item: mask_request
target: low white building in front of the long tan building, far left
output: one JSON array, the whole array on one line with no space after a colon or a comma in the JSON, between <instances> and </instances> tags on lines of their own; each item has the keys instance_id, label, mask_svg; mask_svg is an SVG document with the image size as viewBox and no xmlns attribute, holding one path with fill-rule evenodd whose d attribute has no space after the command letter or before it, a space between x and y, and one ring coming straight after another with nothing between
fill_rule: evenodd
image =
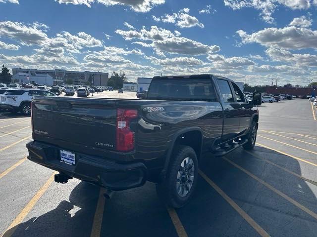
<instances>
[{"instance_id":1,"label":"low white building in front of the long tan building, far left","mask_svg":"<svg viewBox=\"0 0 317 237\"><path fill-rule=\"evenodd\" d=\"M38 83L40 85L55 85L62 83L63 80L53 78L48 74L34 74L16 73L12 76L12 81L19 83Z\"/></svg>"}]
</instances>

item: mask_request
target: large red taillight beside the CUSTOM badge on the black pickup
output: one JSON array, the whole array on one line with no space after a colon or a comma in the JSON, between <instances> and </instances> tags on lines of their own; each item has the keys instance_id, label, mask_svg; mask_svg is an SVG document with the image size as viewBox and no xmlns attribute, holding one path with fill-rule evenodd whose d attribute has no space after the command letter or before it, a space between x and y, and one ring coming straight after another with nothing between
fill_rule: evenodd
<instances>
[{"instance_id":1,"label":"large red taillight beside the CUSTOM badge on the black pickup","mask_svg":"<svg viewBox=\"0 0 317 237\"><path fill-rule=\"evenodd\" d=\"M117 109L116 150L128 152L134 149L134 132L130 130L130 121L138 117L137 110Z\"/></svg>"}]
</instances>

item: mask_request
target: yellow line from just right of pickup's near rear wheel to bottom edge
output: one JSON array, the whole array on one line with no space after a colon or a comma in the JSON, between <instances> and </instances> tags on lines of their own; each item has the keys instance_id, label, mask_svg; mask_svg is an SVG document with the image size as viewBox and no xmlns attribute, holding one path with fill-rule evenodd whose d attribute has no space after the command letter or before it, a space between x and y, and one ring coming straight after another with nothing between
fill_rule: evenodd
<instances>
[{"instance_id":1,"label":"yellow line from just right of pickup's near rear wheel to bottom edge","mask_svg":"<svg viewBox=\"0 0 317 237\"><path fill-rule=\"evenodd\" d=\"M221 196L223 197L232 207L235 209L242 217L245 219L252 227L255 229L260 236L262 237L269 237L266 231L259 226L244 210L238 206L228 195L226 195L215 183L211 181L211 179L201 170L198 171L199 174L210 184L210 186Z\"/></svg>"}]
</instances>

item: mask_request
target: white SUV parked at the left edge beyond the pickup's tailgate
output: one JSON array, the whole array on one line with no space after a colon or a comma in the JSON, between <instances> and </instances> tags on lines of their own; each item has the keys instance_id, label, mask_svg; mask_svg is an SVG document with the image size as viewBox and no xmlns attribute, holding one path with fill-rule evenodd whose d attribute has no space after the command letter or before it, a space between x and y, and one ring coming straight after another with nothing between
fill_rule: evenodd
<instances>
[{"instance_id":1,"label":"white SUV parked at the left edge beyond the pickup's tailgate","mask_svg":"<svg viewBox=\"0 0 317 237\"><path fill-rule=\"evenodd\" d=\"M32 96L55 96L52 92L39 89L8 90L0 96L0 107L8 109L12 113L21 112L23 115L31 114Z\"/></svg>"}]
</instances>

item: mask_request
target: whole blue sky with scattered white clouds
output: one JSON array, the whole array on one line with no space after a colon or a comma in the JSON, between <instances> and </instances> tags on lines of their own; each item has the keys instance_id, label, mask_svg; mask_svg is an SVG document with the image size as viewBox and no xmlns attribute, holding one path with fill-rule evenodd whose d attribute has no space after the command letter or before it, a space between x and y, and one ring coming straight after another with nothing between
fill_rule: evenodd
<instances>
[{"instance_id":1,"label":"whole blue sky with scattered white clouds","mask_svg":"<svg viewBox=\"0 0 317 237\"><path fill-rule=\"evenodd\" d=\"M0 0L0 63L317 81L317 0Z\"/></svg>"}]
</instances>

